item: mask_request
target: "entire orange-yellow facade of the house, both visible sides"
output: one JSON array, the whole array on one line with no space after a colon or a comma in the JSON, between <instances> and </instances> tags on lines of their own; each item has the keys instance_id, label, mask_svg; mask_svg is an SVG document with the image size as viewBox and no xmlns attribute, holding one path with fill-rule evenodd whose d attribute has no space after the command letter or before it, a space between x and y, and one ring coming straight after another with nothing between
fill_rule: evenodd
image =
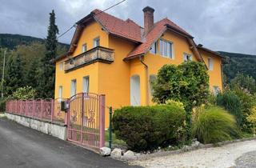
<instances>
[{"instance_id":1,"label":"entire orange-yellow facade of the house, both visible sides","mask_svg":"<svg viewBox=\"0 0 256 168\"><path fill-rule=\"evenodd\" d=\"M184 62L184 53L190 54L193 61L198 61L190 49L186 38L170 30L166 30L160 38L173 44L173 58L163 57L159 52L151 54L148 51L140 58L123 61L137 44L125 38L107 33L95 21L82 30L77 47L70 57L81 54L83 52L82 45L84 44L86 44L87 50L94 48L93 41L95 38L100 39L100 46L114 50L114 62L93 62L76 70L65 72L62 66L63 62L68 58L58 60L56 62L55 98L58 98L60 95L60 86L62 86L62 98L70 98L71 81L74 79L76 80L76 93L82 92L82 79L88 76L90 78L88 91L90 93L106 95L106 110L108 110L108 106L113 106L114 109L130 106L130 80L131 77L137 75L140 80L140 105L150 105L152 104L150 76L156 75L158 70L165 64L178 65ZM157 43L157 50L159 51L159 42ZM222 90L222 58L205 50L198 51L202 55L204 62L206 62L206 66L208 66L208 58L211 58L213 62L213 70L208 70L210 90L213 90L214 87ZM146 64L147 68L142 62ZM106 115L106 126L108 124L108 115Z\"/></svg>"}]
</instances>

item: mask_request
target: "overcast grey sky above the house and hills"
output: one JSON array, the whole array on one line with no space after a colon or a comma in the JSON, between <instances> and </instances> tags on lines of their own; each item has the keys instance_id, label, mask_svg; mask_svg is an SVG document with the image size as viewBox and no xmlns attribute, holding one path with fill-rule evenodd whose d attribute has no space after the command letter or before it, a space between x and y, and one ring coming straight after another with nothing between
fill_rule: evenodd
<instances>
[{"instance_id":1,"label":"overcast grey sky above the house and hills","mask_svg":"<svg viewBox=\"0 0 256 168\"><path fill-rule=\"evenodd\" d=\"M0 33L46 38L49 13L55 10L60 34L98 8L121 0L0 0ZM143 26L142 9L154 8L154 21L170 18L211 50L256 54L255 0L126 0L107 10ZM74 29L60 42L70 43Z\"/></svg>"}]
</instances>

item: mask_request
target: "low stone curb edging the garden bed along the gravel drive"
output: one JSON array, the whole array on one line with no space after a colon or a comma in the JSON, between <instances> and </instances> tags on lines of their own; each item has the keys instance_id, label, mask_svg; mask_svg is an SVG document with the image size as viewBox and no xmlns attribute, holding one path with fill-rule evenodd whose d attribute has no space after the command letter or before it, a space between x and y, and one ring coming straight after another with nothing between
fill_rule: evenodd
<instances>
[{"instance_id":1,"label":"low stone curb edging the garden bed along the gravel drive","mask_svg":"<svg viewBox=\"0 0 256 168\"><path fill-rule=\"evenodd\" d=\"M224 146L224 145L231 144L231 143L251 141L251 140L256 140L256 137L235 139L235 140L231 140L231 141L218 142L216 144L213 144L213 143L201 144L200 143L198 146L187 146L186 148L182 148L180 150L159 151L159 152L155 152L155 153L152 153L152 154L136 154L136 157L134 157L134 158L123 158L123 157L121 157L118 160L122 160L122 161L140 160L140 161L142 161L142 160L147 160L147 159L150 159L150 158L162 157L162 156L167 156L167 155L171 155L171 154L182 154L182 153L189 152L189 151L192 151L192 150L199 150L199 149L206 149L206 148L210 148L210 147Z\"/></svg>"}]
</instances>

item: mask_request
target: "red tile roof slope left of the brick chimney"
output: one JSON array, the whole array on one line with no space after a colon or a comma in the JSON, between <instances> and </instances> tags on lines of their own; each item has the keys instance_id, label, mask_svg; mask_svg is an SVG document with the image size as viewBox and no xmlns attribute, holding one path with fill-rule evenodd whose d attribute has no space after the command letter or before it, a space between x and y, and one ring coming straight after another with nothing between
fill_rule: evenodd
<instances>
[{"instance_id":1,"label":"red tile roof slope left of the brick chimney","mask_svg":"<svg viewBox=\"0 0 256 168\"><path fill-rule=\"evenodd\" d=\"M116 18L110 14L106 14L101 10L93 10L94 18L106 28L110 34L115 34L123 38L141 42L142 41L142 28L134 21L128 18L126 21Z\"/></svg>"}]
</instances>

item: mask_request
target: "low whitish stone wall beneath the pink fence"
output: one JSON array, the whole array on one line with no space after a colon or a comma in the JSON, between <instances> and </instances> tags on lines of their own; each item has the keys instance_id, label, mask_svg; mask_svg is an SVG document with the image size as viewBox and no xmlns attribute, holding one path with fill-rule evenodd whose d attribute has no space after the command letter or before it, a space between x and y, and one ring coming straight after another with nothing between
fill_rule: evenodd
<instances>
[{"instance_id":1,"label":"low whitish stone wall beneath the pink fence","mask_svg":"<svg viewBox=\"0 0 256 168\"><path fill-rule=\"evenodd\" d=\"M14 122L18 122L22 126L30 127L44 134L66 140L66 126L58 122L41 121L35 118L29 118L18 114L10 114L6 112L6 117Z\"/></svg>"}]
</instances>

